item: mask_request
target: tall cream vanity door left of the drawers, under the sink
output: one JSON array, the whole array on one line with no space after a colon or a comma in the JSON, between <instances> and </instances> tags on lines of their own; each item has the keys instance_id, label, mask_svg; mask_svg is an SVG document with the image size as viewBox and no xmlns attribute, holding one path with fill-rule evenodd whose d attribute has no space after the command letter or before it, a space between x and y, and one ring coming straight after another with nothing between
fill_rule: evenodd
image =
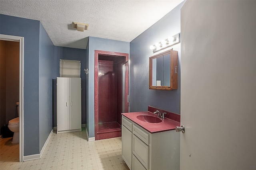
<instances>
[{"instance_id":1,"label":"tall cream vanity door left of the drawers, under the sink","mask_svg":"<svg viewBox=\"0 0 256 170\"><path fill-rule=\"evenodd\" d=\"M122 125L122 158L131 169L132 165L132 132Z\"/></svg>"}]
</instances>

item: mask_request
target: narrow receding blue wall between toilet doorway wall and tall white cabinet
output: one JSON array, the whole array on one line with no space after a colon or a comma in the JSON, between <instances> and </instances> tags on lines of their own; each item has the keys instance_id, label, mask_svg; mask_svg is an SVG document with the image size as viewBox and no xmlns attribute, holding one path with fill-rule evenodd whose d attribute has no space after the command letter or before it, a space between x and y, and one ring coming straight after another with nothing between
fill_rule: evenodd
<instances>
[{"instance_id":1,"label":"narrow receding blue wall between toilet doorway wall and tall white cabinet","mask_svg":"<svg viewBox=\"0 0 256 170\"><path fill-rule=\"evenodd\" d=\"M40 23L39 30L39 149L52 130L52 70L54 45Z\"/></svg>"}]
</instances>

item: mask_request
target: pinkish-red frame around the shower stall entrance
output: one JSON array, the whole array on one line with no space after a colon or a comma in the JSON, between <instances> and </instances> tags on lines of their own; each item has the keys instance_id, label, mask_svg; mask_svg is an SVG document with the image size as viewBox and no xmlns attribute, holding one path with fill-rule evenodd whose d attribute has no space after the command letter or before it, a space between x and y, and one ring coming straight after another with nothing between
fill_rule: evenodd
<instances>
[{"instance_id":1,"label":"pinkish-red frame around the shower stall entrance","mask_svg":"<svg viewBox=\"0 0 256 170\"><path fill-rule=\"evenodd\" d=\"M125 61L129 60L129 54L128 53L118 53L118 52L112 52L112 51L100 51L95 50L94 51L94 135L95 140L98 140L98 59L99 55L106 55L106 56L113 56L113 57L125 57ZM129 95L129 70L126 69L126 80L125 80L125 86L126 91L125 95ZM128 98L126 98L126 105L125 107L129 107ZM128 109L126 109L128 110Z\"/></svg>"}]
</instances>

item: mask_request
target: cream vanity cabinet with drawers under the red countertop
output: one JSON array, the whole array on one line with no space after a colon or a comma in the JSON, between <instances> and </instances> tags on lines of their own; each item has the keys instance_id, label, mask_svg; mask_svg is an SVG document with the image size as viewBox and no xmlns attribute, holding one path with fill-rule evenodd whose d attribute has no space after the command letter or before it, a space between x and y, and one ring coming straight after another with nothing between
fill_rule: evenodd
<instances>
[{"instance_id":1,"label":"cream vanity cabinet with drawers under the red countertop","mask_svg":"<svg viewBox=\"0 0 256 170\"><path fill-rule=\"evenodd\" d=\"M127 122L132 127L129 135ZM150 133L122 116L122 157L131 170L179 170L180 134L175 130ZM128 162L130 157L132 161Z\"/></svg>"}]
</instances>

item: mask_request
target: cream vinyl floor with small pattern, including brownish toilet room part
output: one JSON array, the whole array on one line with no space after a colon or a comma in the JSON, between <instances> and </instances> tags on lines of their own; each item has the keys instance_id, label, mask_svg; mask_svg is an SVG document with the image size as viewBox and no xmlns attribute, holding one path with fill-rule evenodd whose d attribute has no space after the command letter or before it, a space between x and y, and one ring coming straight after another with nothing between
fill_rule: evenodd
<instances>
[{"instance_id":1,"label":"cream vinyl floor with small pattern, including brownish toilet room part","mask_svg":"<svg viewBox=\"0 0 256 170\"><path fill-rule=\"evenodd\" d=\"M82 132L56 131L41 159L19 161L19 145L12 138L0 139L1 170L128 170L122 159L121 137L88 142Z\"/></svg>"}]
</instances>

